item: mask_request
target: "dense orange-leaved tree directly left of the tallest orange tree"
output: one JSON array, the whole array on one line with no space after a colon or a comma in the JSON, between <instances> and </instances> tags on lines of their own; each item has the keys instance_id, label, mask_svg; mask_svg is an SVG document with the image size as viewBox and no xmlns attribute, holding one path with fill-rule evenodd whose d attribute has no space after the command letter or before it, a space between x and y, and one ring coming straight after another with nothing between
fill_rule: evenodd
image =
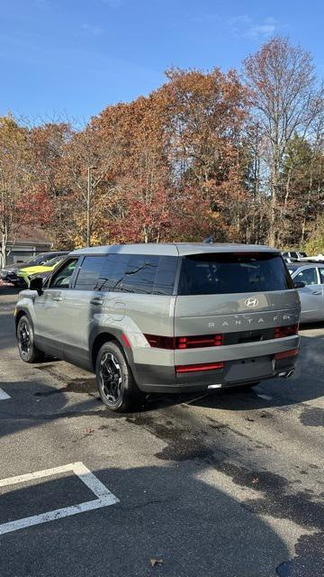
<instances>
[{"instance_id":1,"label":"dense orange-leaved tree directly left of the tallest orange tree","mask_svg":"<svg viewBox=\"0 0 324 577\"><path fill-rule=\"evenodd\" d=\"M157 95L109 106L93 126L104 146L119 151L106 175L102 221L115 242L158 242L170 227L172 188Z\"/></svg>"}]
</instances>

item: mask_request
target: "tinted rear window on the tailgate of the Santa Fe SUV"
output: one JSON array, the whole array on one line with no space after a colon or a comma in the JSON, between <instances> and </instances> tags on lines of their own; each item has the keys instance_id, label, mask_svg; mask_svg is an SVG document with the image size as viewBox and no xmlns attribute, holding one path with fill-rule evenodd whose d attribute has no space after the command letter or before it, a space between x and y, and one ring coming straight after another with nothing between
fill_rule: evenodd
<instances>
[{"instance_id":1,"label":"tinted rear window on the tailgate of the Santa Fe SUV","mask_svg":"<svg viewBox=\"0 0 324 577\"><path fill-rule=\"evenodd\" d=\"M204 253L184 257L178 294L220 295L293 288L293 280L277 253Z\"/></svg>"}]
</instances>

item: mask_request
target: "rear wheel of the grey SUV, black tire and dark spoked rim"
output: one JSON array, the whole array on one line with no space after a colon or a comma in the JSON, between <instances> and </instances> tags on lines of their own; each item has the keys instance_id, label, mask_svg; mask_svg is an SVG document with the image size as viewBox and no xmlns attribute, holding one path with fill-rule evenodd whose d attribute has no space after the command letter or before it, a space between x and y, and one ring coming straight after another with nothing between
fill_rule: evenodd
<instances>
[{"instance_id":1,"label":"rear wheel of the grey SUV, black tire and dark spoked rim","mask_svg":"<svg viewBox=\"0 0 324 577\"><path fill-rule=\"evenodd\" d=\"M117 343L103 344L96 358L95 375L100 397L106 407L119 413L137 407L141 393Z\"/></svg>"}]
</instances>

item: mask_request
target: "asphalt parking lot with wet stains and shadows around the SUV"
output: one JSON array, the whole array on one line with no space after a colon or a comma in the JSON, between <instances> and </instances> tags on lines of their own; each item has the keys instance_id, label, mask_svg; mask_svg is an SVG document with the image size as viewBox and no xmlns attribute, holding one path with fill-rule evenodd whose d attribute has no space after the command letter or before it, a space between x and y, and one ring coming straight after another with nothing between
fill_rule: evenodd
<instances>
[{"instance_id":1,"label":"asphalt parking lot with wet stains and shadows around the SUV","mask_svg":"<svg viewBox=\"0 0 324 577\"><path fill-rule=\"evenodd\" d=\"M91 374L19 359L0 291L1 577L324 574L324 325L291 380L121 416Z\"/></svg>"}]
</instances>

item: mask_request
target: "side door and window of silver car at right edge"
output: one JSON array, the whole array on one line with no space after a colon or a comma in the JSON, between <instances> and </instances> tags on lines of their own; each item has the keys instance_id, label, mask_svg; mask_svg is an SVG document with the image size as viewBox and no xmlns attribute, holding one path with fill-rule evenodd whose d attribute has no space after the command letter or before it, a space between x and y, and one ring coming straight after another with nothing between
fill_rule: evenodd
<instances>
[{"instance_id":1,"label":"side door and window of silver car at right edge","mask_svg":"<svg viewBox=\"0 0 324 577\"><path fill-rule=\"evenodd\" d=\"M305 283L305 287L298 289L302 303L302 323L321 320L323 318L323 291L317 268L313 266L299 270L293 276L293 280Z\"/></svg>"}]
</instances>

